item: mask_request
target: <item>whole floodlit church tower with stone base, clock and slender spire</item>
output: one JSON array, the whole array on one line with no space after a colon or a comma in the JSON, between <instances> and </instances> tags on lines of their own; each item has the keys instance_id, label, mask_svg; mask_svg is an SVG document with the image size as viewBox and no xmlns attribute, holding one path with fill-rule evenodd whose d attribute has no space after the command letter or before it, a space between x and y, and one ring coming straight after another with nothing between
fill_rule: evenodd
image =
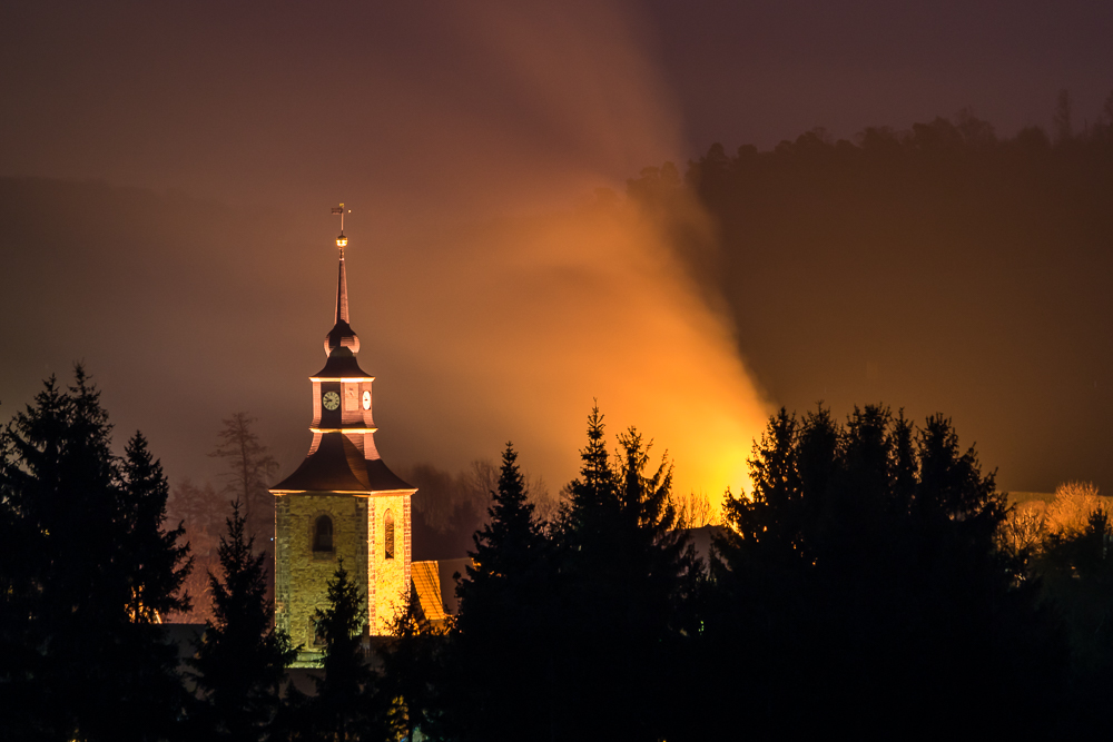
<instances>
[{"instance_id":1,"label":"whole floodlit church tower with stone base, clock and slender spire","mask_svg":"<svg viewBox=\"0 0 1113 742\"><path fill-rule=\"evenodd\" d=\"M275 485L275 617L295 645L321 641L313 615L327 605L326 583L343 560L361 586L371 634L386 634L410 592L410 499L416 488L375 449L373 376L359 368L359 338L348 324L341 215L336 319L325 336L325 367L313 383L313 443L301 466Z\"/></svg>"}]
</instances>

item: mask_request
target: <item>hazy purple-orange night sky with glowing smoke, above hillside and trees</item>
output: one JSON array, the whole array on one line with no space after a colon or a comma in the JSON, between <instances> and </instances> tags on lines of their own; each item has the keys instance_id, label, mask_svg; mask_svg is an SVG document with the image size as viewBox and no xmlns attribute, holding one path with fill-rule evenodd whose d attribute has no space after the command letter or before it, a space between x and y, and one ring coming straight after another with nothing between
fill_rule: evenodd
<instances>
[{"instance_id":1,"label":"hazy purple-orange night sky with glowing smoke, above hillside and trees","mask_svg":"<svg viewBox=\"0 0 1113 742\"><path fill-rule=\"evenodd\" d=\"M215 476L238 410L288 473L344 201L388 464L454 471L513 441L555 492L598 404L679 489L737 491L768 414L816 380L759 378L776 348L597 189L818 126L969 107L1007 136L1047 126L1061 89L1084 118L1113 90L1109 38L1099 2L6 2L0 415L81 362L171 481ZM1113 486L1100 452L1033 463L1041 436L1092 431L1003 439L1002 410L966 399L925 404L1003 486Z\"/></svg>"}]
</instances>

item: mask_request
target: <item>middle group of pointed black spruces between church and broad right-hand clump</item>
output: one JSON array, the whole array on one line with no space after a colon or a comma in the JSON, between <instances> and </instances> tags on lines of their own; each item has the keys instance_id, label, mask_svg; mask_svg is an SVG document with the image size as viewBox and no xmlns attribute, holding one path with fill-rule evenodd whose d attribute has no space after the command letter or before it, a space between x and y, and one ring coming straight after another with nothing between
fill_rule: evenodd
<instances>
[{"instance_id":1,"label":"middle group of pointed black spruces between church and broad right-hand clump","mask_svg":"<svg viewBox=\"0 0 1113 742\"><path fill-rule=\"evenodd\" d=\"M589 417L580 476L543 535L513 448L476 534L450 637L446 726L462 739L659 739L697 571L672 531L671 466L631 428L607 449Z\"/></svg>"}]
</instances>

